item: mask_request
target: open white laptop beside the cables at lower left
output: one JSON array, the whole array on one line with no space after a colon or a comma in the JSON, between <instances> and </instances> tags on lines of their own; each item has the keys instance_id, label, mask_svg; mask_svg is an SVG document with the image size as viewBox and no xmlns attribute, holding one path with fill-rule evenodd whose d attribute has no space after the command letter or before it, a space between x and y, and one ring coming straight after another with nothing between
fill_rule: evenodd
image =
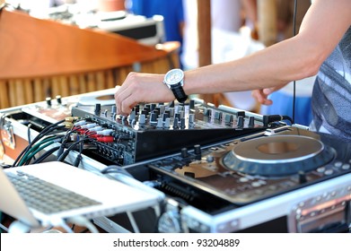
<instances>
[{"instance_id":1,"label":"open white laptop beside the cables at lower left","mask_svg":"<svg viewBox=\"0 0 351 251\"><path fill-rule=\"evenodd\" d=\"M12 181L10 176L14 176ZM30 186L25 185L28 179L32 182ZM37 184L46 188L35 188ZM58 194L55 195L57 192L51 190L57 188ZM42 203L42 197L50 194L49 203ZM65 195L68 195L67 198L62 198ZM35 202L38 199L39 204ZM159 201L157 193L127 186L59 161L0 169L0 212L31 228L55 226L57 220L65 221L75 216L92 219L118 212L133 212L154 206ZM50 204L54 206L51 208Z\"/></svg>"}]
</instances>

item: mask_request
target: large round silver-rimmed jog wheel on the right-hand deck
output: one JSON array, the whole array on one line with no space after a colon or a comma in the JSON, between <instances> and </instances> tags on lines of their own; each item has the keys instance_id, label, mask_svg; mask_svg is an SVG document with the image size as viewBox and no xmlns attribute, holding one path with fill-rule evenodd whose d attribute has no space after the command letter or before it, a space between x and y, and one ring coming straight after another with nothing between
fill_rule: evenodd
<instances>
[{"instance_id":1,"label":"large round silver-rimmed jog wheel on the right-hand deck","mask_svg":"<svg viewBox=\"0 0 351 251\"><path fill-rule=\"evenodd\" d=\"M241 173L281 177L327 164L335 151L317 139L276 135L238 144L223 158L224 167Z\"/></svg>"}]
</instances>

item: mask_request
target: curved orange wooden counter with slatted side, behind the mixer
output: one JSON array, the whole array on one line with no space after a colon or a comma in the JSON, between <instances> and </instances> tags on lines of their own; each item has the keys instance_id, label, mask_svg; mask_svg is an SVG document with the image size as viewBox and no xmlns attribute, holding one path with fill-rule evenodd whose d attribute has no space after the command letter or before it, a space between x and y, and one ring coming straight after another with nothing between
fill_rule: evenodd
<instances>
[{"instance_id":1,"label":"curved orange wooden counter with slatted side, behind the mixer","mask_svg":"<svg viewBox=\"0 0 351 251\"><path fill-rule=\"evenodd\" d=\"M178 42L157 48L117 34L83 30L26 13L0 13L0 108L99 91L131 71L179 66Z\"/></svg>"}]
</instances>

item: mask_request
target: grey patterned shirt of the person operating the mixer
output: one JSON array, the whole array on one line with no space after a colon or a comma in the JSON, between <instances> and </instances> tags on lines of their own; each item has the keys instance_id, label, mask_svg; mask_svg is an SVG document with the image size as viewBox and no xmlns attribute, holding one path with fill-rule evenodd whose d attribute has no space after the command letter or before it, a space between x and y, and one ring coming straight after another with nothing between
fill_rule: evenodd
<instances>
[{"instance_id":1,"label":"grey patterned shirt of the person operating the mixer","mask_svg":"<svg viewBox=\"0 0 351 251\"><path fill-rule=\"evenodd\" d=\"M320 66L312 92L312 113L317 130L351 139L351 26Z\"/></svg>"}]
</instances>

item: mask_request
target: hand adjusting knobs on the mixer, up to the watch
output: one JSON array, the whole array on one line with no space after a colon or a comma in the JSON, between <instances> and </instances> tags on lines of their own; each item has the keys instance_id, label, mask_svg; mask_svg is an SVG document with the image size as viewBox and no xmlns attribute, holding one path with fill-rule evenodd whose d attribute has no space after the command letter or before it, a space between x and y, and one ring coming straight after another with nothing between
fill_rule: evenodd
<instances>
[{"instance_id":1,"label":"hand adjusting knobs on the mixer, up to the watch","mask_svg":"<svg viewBox=\"0 0 351 251\"><path fill-rule=\"evenodd\" d=\"M173 93L163 83L163 78L163 74L128 74L115 93L118 114L129 115L131 109L140 102L159 103L174 100Z\"/></svg>"}]
</instances>

